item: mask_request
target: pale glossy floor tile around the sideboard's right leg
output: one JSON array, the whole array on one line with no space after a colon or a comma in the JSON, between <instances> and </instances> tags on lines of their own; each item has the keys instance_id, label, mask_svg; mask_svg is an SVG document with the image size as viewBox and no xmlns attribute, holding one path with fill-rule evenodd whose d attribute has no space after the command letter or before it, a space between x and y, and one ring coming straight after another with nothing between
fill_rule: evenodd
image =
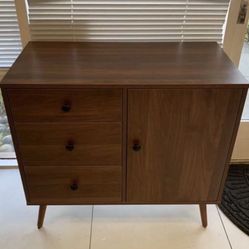
<instances>
[{"instance_id":1,"label":"pale glossy floor tile around the sideboard's right leg","mask_svg":"<svg viewBox=\"0 0 249 249\"><path fill-rule=\"evenodd\" d=\"M92 249L230 249L216 206L202 228L198 206L94 206Z\"/></svg>"}]
</instances>

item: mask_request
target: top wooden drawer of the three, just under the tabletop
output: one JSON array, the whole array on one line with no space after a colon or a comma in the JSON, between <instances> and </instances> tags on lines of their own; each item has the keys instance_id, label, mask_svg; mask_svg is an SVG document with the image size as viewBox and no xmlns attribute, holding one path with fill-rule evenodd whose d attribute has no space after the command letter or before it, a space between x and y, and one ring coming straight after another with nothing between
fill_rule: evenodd
<instances>
[{"instance_id":1,"label":"top wooden drawer of the three, just under the tabletop","mask_svg":"<svg viewBox=\"0 0 249 249\"><path fill-rule=\"evenodd\" d=\"M121 89L11 89L15 122L121 121Z\"/></svg>"}]
</instances>

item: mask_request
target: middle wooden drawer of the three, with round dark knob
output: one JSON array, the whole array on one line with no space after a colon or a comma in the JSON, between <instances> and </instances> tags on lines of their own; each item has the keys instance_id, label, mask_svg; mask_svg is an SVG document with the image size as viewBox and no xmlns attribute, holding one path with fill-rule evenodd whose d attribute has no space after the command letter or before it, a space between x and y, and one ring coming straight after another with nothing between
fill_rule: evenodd
<instances>
[{"instance_id":1,"label":"middle wooden drawer of the three, with round dark knob","mask_svg":"<svg viewBox=\"0 0 249 249\"><path fill-rule=\"evenodd\" d=\"M24 166L121 165L120 123L18 123Z\"/></svg>"}]
</instances>

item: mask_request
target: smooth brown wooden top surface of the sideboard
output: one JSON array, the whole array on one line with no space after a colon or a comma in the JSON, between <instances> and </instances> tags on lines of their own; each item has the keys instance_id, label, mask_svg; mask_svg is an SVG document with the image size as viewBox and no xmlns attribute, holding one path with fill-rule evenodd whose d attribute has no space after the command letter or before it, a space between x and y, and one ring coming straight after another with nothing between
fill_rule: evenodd
<instances>
[{"instance_id":1,"label":"smooth brown wooden top surface of the sideboard","mask_svg":"<svg viewBox=\"0 0 249 249\"><path fill-rule=\"evenodd\" d=\"M234 86L247 80L214 42L29 42L1 87Z\"/></svg>"}]
</instances>

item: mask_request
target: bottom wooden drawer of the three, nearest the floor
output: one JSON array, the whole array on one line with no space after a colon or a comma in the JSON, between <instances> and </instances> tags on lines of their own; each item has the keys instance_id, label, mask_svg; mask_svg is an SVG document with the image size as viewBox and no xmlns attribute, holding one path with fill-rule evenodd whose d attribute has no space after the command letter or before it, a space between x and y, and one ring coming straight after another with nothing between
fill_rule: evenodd
<instances>
[{"instance_id":1,"label":"bottom wooden drawer of the three, nearest the floor","mask_svg":"<svg viewBox=\"0 0 249 249\"><path fill-rule=\"evenodd\" d=\"M26 167L30 204L121 201L120 167Z\"/></svg>"}]
</instances>

